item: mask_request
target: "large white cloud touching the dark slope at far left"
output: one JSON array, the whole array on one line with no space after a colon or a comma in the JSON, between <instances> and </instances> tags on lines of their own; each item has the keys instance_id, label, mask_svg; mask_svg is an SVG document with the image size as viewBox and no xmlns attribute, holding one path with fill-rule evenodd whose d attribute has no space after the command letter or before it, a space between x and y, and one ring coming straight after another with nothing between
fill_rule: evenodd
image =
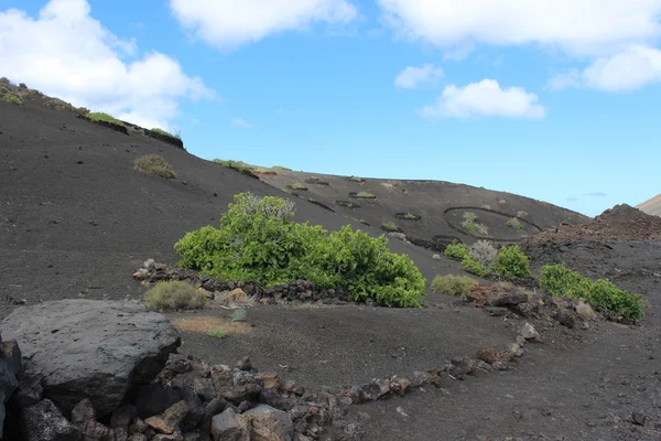
<instances>
[{"instance_id":1,"label":"large white cloud touching the dark slope at far left","mask_svg":"<svg viewBox=\"0 0 661 441\"><path fill-rule=\"evenodd\" d=\"M178 115L180 99L213 96L174 58L137 53L136 41L118 39L90 17L86 0L51 0L37 18L0 11L2 75L46 95L163 128Z\"/></svg>"}]
</instances>

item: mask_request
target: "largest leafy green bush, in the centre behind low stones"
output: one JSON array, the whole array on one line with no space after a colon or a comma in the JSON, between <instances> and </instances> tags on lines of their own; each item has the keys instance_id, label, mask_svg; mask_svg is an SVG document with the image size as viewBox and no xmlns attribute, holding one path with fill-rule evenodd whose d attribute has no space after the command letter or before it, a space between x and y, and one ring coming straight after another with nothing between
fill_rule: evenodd
<instances>
[{"instance_id":1,"label":"largest leafy green bush, in the centre behind low stones","mask_svg":"<svg viewBox=\"0 0 661 441\"><path fill-rule=\"evenodd\" d=\"M350 226L328 234L292 222L293 213L293 204L280 197L238 194L219 228L201 228L175 244L178 265L267 287L296 280L322 289L344 286L356 301L420 306L425 279L409 256L388 249L383 236L372 238Z\"/></svg>"}]
</instances>

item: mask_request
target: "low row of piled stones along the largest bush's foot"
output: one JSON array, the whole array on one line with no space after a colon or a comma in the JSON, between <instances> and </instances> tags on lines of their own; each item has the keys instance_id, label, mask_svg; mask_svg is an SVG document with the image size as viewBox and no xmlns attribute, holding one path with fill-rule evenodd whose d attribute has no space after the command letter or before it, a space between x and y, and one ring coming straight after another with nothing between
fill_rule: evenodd
<instances>
[{"instance_id":1,"label":"low row of piled stones along the largest bush's foot","mask_svg":"<svg viewBox=\"0 0 661 441\"><path fill-rule=\"evenodd\" d=\"M317 289L315 283L300 280L294 283L267 288L256 281L241 280L228 282L213 277L202 276L197 271L191 269L172 268L163 263L148 262L145 262L144 268L140 268L133 273L133 279L142 281L144 284L169 280L186 280L206 290L209 293L209 297L224 298L226 293L240 289L243 291L245 295L252 298L262 304L293 301L345 304L353 299L351 293L343 287L337 287L335 289ZM371 301L371 299L368 299L367 301Z\"/></svg>"}]
</instances>

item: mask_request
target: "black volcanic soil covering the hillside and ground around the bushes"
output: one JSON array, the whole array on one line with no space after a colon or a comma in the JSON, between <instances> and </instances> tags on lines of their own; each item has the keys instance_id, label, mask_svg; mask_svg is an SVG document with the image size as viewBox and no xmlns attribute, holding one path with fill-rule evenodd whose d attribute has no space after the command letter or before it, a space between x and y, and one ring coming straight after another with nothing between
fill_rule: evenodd
<instances>
[{"instance_id":1,"label":"black volcanic soil covering the hillside and ground around the bushes","mask_svg":"<svg viewBox=\"0 0 661 441\"><path fill-rule=\"evenodd\" d=\"M132 170L136 158L151 153L173 164L177 179ZM318 178L329 185L311 184L305 197L338 212L296 198L296 219L329 229L355 217L370 222L372 227L354 225L373 235L391 219L414 236L454 235L443 220L444 209L486 204L508 215L525 211L542 228L587 222L532 200L463 185L443 183L441 192L429 182L366 180L361 186L344 178ZM282 186L296 180L305 181L290 178ZM324 198L318 189L337 194ZM356 211L334 204L361 190L377 200L360 200ZM150 257L174 262L173 243L191 229L216 224L232 195L242 191L284 195L144 136L121 135L30 100L22 107L0 101L0 315L20 308L12 300L140 298L144 289L131 278L132 270ZM394 217L408 212L422 219ZM408 252L429 280L436 273L460 273L456 262L434 260L431 251L399 240L390 247ZM527 251L535 270L564 262L640 292L651 304L644 321L640 326L597 322L588 330L534 322L544 343L527 344L514 369L447 379L442 389L356 407L353 411L369 416L368 439L661 439L660 244L563 240L528 244ZM315 388L443 367L479 346L510 342L521 324L453 302L430 294L429 308L416 311L256 306L248 310L249 333L224 340L183 333L181 351L227 364L250 354L260 370L273 369ZM201 314L227 312L185 316Z\"/></svg>"}]
</instances>

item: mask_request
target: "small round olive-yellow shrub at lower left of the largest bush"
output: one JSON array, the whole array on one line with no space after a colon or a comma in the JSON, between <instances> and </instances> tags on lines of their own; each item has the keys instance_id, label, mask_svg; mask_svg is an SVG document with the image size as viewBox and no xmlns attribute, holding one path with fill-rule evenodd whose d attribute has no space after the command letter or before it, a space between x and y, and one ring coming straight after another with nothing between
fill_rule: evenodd
<instances>
[{"instance_id":1,"label":"small round olive-yellow shrub at lower left of the largest bush","mask_svg":"<svg viewBox=\"0 0 661 441\"><path fill-rule=\"evenodd\" d=\"M144 305L152 311L197 310L206 300L204 293L180 280L158 282L144 294Z\"/></svg>"}]
</instances>

